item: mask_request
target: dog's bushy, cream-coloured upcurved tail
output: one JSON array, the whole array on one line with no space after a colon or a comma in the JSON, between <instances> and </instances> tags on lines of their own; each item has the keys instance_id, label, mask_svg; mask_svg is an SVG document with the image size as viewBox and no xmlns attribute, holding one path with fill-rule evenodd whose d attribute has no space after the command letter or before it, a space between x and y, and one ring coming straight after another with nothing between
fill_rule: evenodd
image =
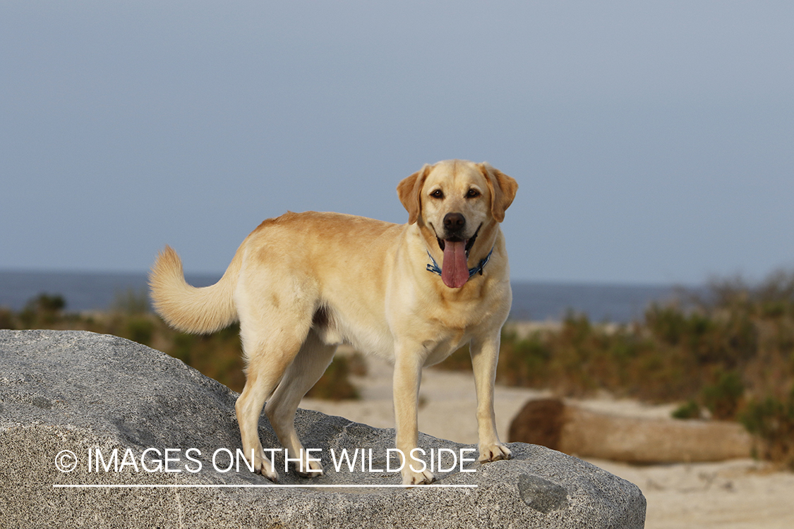
<instances>
[{"instance_id":1,"label":"dog's bushy, cream-coloured upcurved tail","mask_svg":"<svg viewBox=\"0 0 794 529\"><path fill-rule=\"evenodd\" d=\"M196 288L185 282L179 255L172 247L165 247L149 272L154 309L167 324L182 332L202 334L228 327L237 320L233 294L241 260L241 252L237 252L220 281Z\"/></svg>"}]
</instances>

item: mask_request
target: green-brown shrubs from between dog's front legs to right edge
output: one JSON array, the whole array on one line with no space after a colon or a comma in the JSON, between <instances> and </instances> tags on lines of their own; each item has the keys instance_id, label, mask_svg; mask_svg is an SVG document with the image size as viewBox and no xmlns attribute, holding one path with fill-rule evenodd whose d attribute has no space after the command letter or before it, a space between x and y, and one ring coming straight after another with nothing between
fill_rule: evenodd
<instances>
[{"instance_id":1,"label":"green-brown shrubs from between dog's front legs to right edge","mask_svg":"<svg viewBox=\"0 0 794 529\"><path fill-rule=\"evenodd\" d=\"M678 419L739 420L759 457L794 458L794 272L752 285L716 279L707 289L653 303L629 324L594 324L568 312L560 324L502 334L497 381L559 397L607 392L678 402ZM471 369L457 351L441 369Z\"/></svg>"}]
</instances>

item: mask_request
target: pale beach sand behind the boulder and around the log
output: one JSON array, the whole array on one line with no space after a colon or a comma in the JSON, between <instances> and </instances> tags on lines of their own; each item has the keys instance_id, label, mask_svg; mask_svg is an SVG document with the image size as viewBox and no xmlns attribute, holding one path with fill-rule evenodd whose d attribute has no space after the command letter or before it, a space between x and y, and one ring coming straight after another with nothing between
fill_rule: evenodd
<instances>
[{"instance_id":1,"label":"pale beach sand behind the boulder and around the log","mask_svg":"<svg viewBox=\"0 0 794 529\"><path fill-rule=\"evenodd\" d=\"M391 366L371 356L368 374L353 378L359 401L304 399L302 408L375 427L394 427ZM427 369L420 390L419 430L458 443L476 443L476 396L471 374ZM496 420L507 440L511 420L526 401L545 396L532 389L497 385ZM623 416L669 417L673 404L647 406L608 397L572 401ZM715 463L632 466L588 460L642 489L648 500L648 529L720 527L721 529L790 529L794 527L794 473L773 470L763 462L736 459Z\"/></svg>"}]
</instances>

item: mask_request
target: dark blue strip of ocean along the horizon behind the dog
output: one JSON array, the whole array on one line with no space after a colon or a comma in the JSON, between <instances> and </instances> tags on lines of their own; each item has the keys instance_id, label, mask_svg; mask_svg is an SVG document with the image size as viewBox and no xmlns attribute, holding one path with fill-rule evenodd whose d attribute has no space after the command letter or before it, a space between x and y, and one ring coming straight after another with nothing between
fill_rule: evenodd
<instances>
[{"instance_id":1,"label":"dark blue strip of ocean along the horizon behind the dog","mask_svg":"<svg viewBox=\"0 0 794 529\"><path fill-rule=\"evenodd\" d=\"M193 286L208 286L221 275L187 274ZM591 320L626 323L642 317L653 301L673 297L673 286L514 282L514 320L559 320L568 311ZM146 274L0 271L0 307L20 310L40 293L60 294L67 312L110 309L120 295L143 293Z\"/></svg>"}]
</instances>

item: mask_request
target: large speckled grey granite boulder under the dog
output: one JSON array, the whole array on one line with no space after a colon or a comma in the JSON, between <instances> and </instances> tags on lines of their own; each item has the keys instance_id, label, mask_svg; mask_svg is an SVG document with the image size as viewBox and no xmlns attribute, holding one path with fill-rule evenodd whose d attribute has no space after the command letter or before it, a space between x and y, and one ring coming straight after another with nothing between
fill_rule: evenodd
<instances>
[{"instance_id":1,"label":"large speckled grey granite boulder under the dog","mask_svg":"<svg viewBox=\"0 0 794 529\"><path fill-rule=\"evenodd\" d=\"M436 473L437 485L476 488L345 487L399 485L397 460L387 461L394 431L308 410L299 410L296 427L304 446L319 449L313 455L324 476L284 474L279 454L279 485L288 487L242 462L222 472L230 462L222 449L240 447L236 398L183 362L125 339L0 331L0 527L644 526L646 500L635 485L523 443L510 445L510 461L452 469L453 451L476 447L420 435L428 454L449 449L450 470ZM279 447L264 416L260 424L264 447ZM364 469L359 457L353 471L335 470L342 449L365 450Z\"/></svg>"}]
</instances>

